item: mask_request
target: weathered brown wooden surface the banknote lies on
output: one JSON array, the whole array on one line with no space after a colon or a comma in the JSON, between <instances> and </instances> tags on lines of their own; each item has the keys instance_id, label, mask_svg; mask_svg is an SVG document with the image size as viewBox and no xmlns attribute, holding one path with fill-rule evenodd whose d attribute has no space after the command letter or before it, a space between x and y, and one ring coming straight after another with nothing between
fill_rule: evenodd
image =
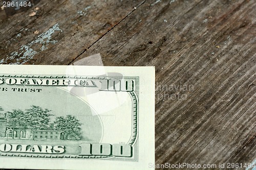
<instances>
[{"instance_id":1,"label":"weathered brown wooden surface the banknote lies on","mask_svg":"<svg viewBox=\"0 0 256 170\"><path fill-rule=\"evenodd\" d=\"M256 1L36 7L9 17L0 9L0 64L68 65L100 53L105 66L155 65L156 164L256 158Z\"/></svg>"}]
</instances>

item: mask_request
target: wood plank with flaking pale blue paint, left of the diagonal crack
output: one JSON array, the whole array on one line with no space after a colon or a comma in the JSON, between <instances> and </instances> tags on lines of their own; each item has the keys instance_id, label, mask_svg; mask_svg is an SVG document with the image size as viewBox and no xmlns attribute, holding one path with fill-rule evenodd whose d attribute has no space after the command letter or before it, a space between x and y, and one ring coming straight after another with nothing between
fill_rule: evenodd
<instances>
[{"instance_id":1,"label":"wood plank with flaking pale blue paint, left of the diagonal crack","mask_svg":"<svg viewBox=\"0 0 256 170\"><path fill-rule=\"evenodd\" d=\"M141 3L44 1L38 4L35 16L29 16L31 9L23 13L24 17L14 15L2 20L0 63L67 64Z\"/></svg>"}]
</instances>

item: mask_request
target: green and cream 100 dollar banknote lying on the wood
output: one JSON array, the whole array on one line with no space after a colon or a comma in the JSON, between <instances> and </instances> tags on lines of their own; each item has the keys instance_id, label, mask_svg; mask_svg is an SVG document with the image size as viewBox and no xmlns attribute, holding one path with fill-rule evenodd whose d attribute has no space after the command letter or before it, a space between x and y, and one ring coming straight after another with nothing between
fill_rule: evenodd
<instances>
[{"instance_id":1,"label":"green and cream 100 dollar banknote lying on the wood","mask_svg":"<svg viewBox=\"0 0 256 170\"><path fill-rule=\"evenodd\" d=\"M154 67L0 65L0 99L1 169L155 162Z\"/></svg>"}]
</instances>

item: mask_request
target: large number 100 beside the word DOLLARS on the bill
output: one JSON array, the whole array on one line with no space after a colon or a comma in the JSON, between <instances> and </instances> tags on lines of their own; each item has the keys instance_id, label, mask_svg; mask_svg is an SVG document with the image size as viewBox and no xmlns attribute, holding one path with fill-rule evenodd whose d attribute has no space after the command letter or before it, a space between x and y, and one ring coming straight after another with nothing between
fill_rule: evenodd
<instances>
[{"instance_id":1,"label":"large number 100 beside the word DOLLARS on the bill","mask_svg":"<svg viewBox=\"0 0 256 170\"><path fill-rule=\"evenodd\" d=\"M109 144L109 143L82 143L81 156L102 155L102 156L119 156L132 157L132 146L129 144Z\"/></svg>"}]
</instances>

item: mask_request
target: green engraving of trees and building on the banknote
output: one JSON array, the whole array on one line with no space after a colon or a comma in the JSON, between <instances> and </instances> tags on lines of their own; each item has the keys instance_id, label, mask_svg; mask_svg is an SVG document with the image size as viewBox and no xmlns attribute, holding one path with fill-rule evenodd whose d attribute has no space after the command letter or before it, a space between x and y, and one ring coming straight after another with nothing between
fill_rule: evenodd
<instances>
[{"instance_id":1,"label":"green engraving of trees and building on the banknote","mask_svg":"<svg viewBox=\"0 0 256 170\"><path fill-rule=\"evenodd\" d=\"M75 116L59 116L53 122L55 116L50 113L51 110L44 110L39 106L31 106L26 111L13 109L11 112L4 112L1 106L0 109L0 138L27 140L81 139L81 123ZM69 123L73 126L71 130L65 128Z\"/></svg>"}]
</instances>

